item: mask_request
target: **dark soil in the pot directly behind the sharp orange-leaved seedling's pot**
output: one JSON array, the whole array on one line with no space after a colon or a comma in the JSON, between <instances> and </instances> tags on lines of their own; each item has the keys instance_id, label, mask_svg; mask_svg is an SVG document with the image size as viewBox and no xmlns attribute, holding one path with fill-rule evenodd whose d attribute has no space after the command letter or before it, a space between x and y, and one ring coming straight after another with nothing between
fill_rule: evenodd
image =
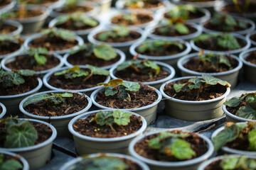
<instances>
[{"instance_id":1,"label":"dark soil in the pot directly behind the sharp orange-leaved seedling's pot","mask_svg":"<svg viewBox=\"0 0 256 170\"><path fill-rule=\"evenodd\" d=\"M127 81L141 81L141 82L146 82L146 81L157 81L160 79L164 79L166 77L168 77L170 75L169 72L166 72L162 67L160 69L159 74L154 75L154 77L149 76L148 74L142 74L141 72L136 72L134 69L132 69L131 67L121 70L121 71L117 71L115 73L115 76L123 79L123 80L127 80Z\"/></svg>"}]
</instances>

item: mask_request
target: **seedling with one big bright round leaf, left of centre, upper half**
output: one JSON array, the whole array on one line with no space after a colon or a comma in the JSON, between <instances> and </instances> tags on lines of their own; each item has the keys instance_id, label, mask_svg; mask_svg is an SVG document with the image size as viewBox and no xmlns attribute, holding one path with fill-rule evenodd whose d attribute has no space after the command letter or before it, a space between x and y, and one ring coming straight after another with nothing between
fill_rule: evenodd
<instances>
[{"instance_id":1,"label":"seedling with one big bright round leaf, left of centre, upper half","mask_svg":"<svg viewBox=\"0 0 256 170\"><path fill-rule=\"evenodd\" d=\"M117 57L117 52L114 51L114 49L110 45L106 44L84 44L80 45L78 49L71 50L70 55L75 55L77 52L83 52L82 56L85 57L97 57L98 59L102 59L105 61L113 60Z\"/></svg>"}]
</instances>

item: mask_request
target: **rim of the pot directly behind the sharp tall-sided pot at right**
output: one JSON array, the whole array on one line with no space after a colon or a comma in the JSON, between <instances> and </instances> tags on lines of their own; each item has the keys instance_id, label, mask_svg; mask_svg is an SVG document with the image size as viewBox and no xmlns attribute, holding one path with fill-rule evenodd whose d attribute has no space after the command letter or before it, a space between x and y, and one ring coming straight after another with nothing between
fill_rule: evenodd
<instances>
[{"instance_id":1,"label":"rim of the pot directly behind the sharp tall-sided pot at right","mask_svg":"<svg viewBox=\"0 0 256 170\"><path fill-rule=\"evenodd\" d=\"M207 53L209 53L209 52L206 52L206 54ZM234 72L238 72L240 69L242 69L241 60L239 60L239 58L236 57L235 55L230 55L230 57L232 57L233 59L235 59L238 62L238 66L233 68L233 69L230 69L228 71L225 71L225 72L212 72L212 73L196 72L196 71L193 71L191 69L186 69L186 67L183 67L183 64L186 64L189 60L191 60L191 58L198 58L198 52L194 52L190 55L186 55L184 57L181 57L177 62L177 66L178 66L178 69L181 70L181 72L186 72L186 73L189 73L189 74L195 74L195 75L198 75L198 76L201 76L202 74L211 75L211 76L223 76L223 75L227 75L227 74L232 74Z\"/></svg>"}]
</instances>

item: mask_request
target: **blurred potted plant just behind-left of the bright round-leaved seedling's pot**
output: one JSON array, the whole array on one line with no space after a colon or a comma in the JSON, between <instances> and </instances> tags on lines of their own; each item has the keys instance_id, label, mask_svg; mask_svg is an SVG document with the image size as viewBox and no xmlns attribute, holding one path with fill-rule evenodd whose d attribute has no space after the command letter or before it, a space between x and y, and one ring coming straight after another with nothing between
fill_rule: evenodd
<instances>
[{"instance_id":1,"label":"blurred potted plant just behind-left of the bright round-leaved seedling's pot","mask_svg":"<svg viewBox=\"0 0 256 170\"><path fill-rule=\"evenodd\" d=\"M31 47L46 47L49 54L53 52L65 54L70 52L71 48L83 43L82 38L76 36L72 31L53 27L43 29L41 33L27 38L24 42L24 47L26 50Z\"/></svg>"}]
</instances>

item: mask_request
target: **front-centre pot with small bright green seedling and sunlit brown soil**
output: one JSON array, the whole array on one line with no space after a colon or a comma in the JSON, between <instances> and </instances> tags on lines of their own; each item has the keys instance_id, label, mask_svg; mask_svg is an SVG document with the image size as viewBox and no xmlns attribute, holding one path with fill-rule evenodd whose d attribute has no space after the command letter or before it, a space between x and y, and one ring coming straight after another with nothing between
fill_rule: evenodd
<instances>
[{"instance_id":1,"label":"front-centre pot with small bright green seedling and sunlit brown soil","mask_svg":"<svg viewBox=\"0 0 256 170\"><path fill-rule=\"evenodd\" d=\"M96 152L126 153L129 142L146 130L146 120L132 112L90 111L68 124L79 155Z\"/></svg>"}]
</instances>

